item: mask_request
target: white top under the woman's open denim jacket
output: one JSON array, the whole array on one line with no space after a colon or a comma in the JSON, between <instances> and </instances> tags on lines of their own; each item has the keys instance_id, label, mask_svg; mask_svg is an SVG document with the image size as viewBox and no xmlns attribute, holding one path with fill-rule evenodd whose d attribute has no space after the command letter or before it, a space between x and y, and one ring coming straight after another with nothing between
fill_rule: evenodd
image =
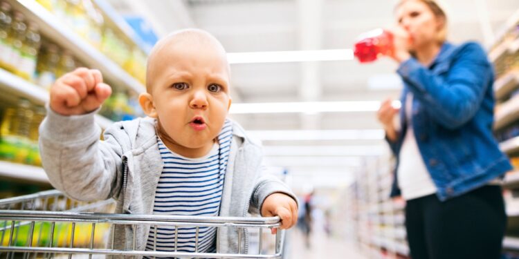
<instances>
[{"instance_id":1,"label":"white top under the woman's open denim jacket","mask_svg":"<svg viewBox=\"0 0 519 259\"><path fill-rule=\"evenodd\" d=\"M406 98L407 131L399 154L398 182L404 200L412 200L437 192L418 149L412 130L412 93Z\"/></svg>"}]
</instances>

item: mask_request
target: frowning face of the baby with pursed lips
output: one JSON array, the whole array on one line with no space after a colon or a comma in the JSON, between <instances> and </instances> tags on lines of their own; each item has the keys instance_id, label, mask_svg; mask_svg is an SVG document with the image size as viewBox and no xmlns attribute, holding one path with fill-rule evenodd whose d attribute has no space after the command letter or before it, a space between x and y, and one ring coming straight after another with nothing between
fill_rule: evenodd
<instances>
[{"instance_id":1,"label":"frowning face of the baby with pursed lips","mask_svg":"<svg viewBox=\"0 0 519 259\"><path fill-rule=\"evenodd\" d=\"M181 41L157 54L151 95L159 134L183 148L212 146L230 107L225 52Z\"/></svg>"}]
</instances>

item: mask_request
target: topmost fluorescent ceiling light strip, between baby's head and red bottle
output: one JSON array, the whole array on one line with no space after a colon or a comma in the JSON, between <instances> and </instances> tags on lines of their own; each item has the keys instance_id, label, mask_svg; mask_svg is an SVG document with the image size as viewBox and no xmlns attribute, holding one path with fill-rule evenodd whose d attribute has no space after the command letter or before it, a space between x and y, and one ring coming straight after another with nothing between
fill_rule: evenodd
<instances>
[{"instance_id":1,"label":"topmost fluorescent ceiling light strip, between baby's head and red bottle","mask_svg":"<svg viewBox=\"0 0 519 259\"><path fill-rule=\"evenodd\" d=\"M352 60L352 49L227 53L229 64Z\"/></svg>"}]
</instances>

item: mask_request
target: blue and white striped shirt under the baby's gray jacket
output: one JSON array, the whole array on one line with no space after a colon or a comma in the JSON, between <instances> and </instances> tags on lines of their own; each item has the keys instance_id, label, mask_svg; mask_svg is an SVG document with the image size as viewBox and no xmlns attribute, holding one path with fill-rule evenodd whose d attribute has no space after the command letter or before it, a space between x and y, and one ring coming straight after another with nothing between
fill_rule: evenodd
<instances>
[{"instance_id":1,"label":"blue and white striped shirt under the baby's gray jacket","mask_svg":"<svg viewBox=\"0 0 519 259\"><path fill-rule=\"evenodd\" d=\"M158 180L153 213L155 215L203 215L219 214L221 193L230 151L233 128L226 120L218 143L208 155L188 158L170 151L160 138L158 149L161 151L164 169ZM195 227L179 227L177 251L195 251ZM158 226L149 231L146 250L175 251L175 227ZM216 228L199 227L199 253L216 251Z\"/></svg>"}]
</instances>

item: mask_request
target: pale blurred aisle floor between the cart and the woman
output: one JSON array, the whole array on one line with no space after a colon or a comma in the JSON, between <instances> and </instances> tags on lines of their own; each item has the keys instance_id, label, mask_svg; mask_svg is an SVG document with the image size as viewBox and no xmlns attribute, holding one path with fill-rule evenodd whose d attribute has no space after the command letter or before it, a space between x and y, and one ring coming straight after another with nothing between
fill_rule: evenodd
<instances>
[{"instance_id":1,"label":"pale blurred aisle floor between the cart and the woman","mask_svg":"<svg viewBox=\"0 0 519 259\"><path fill-rule=\"evenodd\" d=\"M288 259L365 259L358 247L352 242L334 237L327 237L324 232L313 234L311 237L311 248L304 245L304 236L299 229L290 233L286 258Z\"/></svg>"}]
</instances>

